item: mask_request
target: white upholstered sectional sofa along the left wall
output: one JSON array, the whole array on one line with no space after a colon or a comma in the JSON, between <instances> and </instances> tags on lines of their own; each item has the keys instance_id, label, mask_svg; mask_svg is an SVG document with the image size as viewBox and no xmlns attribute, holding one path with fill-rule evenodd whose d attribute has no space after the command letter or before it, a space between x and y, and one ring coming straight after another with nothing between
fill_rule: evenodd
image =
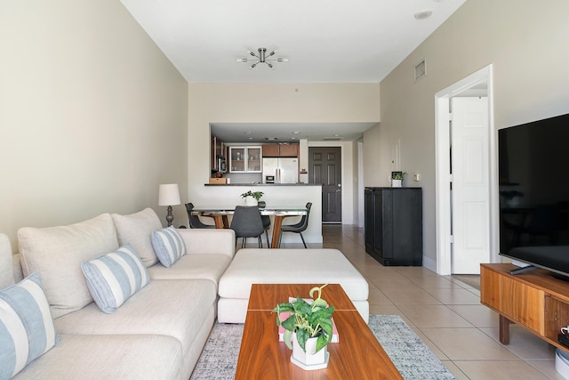
<instances>
[{"instance_id":1,"label":"white upholstered sectional sofa along the left wall","mask_svg":"<svg viewBox=\"0 0 569 380\"><path fill-rule=\"evenodd\" d=\"M0 316L3 293L6 298L11 289L19 290L12 284L37 272L60 338L15 379L189 378L214 323L218 283L235 254L235 235L233 230L177 230L187 253L166 268L152 246L156 230L162 225L149 208L68 226L22 228L20 254L13 256L0 234ZM105 313L93 302L90 287L96 284L85 279L81 263L126 244L148 268L149 282Z\"/></svg>"}]
</instances>

